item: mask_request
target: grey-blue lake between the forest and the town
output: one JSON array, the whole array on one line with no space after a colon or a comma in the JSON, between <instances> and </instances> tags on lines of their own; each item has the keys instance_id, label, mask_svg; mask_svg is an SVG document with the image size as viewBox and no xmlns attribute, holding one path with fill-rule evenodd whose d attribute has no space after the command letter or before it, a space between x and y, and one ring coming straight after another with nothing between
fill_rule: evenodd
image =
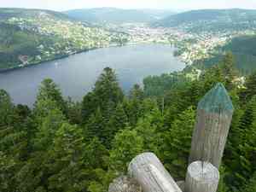
<instances>
[{"instance_id":1,"label":"grey-blue lake between the forest and the town","mask_svg":"<svg viewBox=\"0 0 256 192\"><path fill-rule=\"evenodd\" d=\"M0 89L7 90L15 103L32 106L38 86L50 78L59 84L64 96L78 101L90 91L104 67L112 67L125 91L141 84L148 75L182 70L185 66L173 56L170 45L142 44L95 49L58 61L0 73Z\"/></svg>"}]
</instances>

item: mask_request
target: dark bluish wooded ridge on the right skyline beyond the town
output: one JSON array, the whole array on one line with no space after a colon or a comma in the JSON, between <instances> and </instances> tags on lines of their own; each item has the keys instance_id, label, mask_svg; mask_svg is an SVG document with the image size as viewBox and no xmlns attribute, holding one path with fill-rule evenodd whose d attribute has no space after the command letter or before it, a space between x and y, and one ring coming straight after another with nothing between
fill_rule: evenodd
<instances>
[{"instance_id":1,"label":"dark bluish wooded ridge on the right skyline beyond the town","mask_svg":"<svg viewBox=\"0 0 256 192\"><path fill-rule=\"evenodd\" d=\"M256 10L253 9L201 9L171 15L153 26L185 27L187 30L218 31L256 27Z\"/></svg>"}]
</instances>

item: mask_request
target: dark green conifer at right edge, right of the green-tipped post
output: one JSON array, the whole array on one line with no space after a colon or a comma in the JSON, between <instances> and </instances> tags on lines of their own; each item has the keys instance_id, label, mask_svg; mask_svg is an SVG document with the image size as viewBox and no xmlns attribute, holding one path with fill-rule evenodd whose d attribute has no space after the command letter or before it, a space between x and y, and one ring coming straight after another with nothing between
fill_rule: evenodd
<instances>
[{"instance_id":1,"label":"dark green conifer at right edge, right of the green-tipped post","mask_svg":"<svg viewBox=\"0 0 256 192\"><path fill-rule=\"evenodd\" d=\"M232 174L232 185L237 189L247 183L247 180L256 171L256 97L247 104L245 113L241 116L237 141L233 144L232 159L227 161ZM228 145L229 147L229 145ZM224 160L225 161L225 160ZM241 188L242 189L242 188Z\"/></svg>"}]
</instances>

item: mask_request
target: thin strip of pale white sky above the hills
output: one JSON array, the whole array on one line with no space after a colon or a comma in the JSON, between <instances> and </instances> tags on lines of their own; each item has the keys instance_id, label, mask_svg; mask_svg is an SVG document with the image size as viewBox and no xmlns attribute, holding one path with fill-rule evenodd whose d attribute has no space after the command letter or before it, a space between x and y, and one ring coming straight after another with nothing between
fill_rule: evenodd
<instances>
[{"instance_id":1,"label":"thin strip of pale white sky above the hills","mask_svg":"<svg viewBox=\"0 0 256 192\"><path fill-rule=\"evenodd\" d=\"M0 0L0 7L35 9L256 9L256 0Z\"/></svg>"}]
</instances>

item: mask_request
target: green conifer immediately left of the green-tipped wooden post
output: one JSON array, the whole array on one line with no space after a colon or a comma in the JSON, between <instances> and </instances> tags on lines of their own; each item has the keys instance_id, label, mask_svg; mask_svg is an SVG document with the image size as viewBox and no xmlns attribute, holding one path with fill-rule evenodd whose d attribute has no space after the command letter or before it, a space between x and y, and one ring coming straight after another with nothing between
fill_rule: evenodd
<instances>
[{"instance_id":1,"label":"green conifer immediately left of the green-tipped wooden post","mask_svg":"<svg viewBox=\"0 0 256 192\"><path fill-rule=\"evenodd\" d=\"M161 159L172 176L183 179L188 167L192 132L195 126L195 110L188 108L172 122L164 134L165 142L160 147Z\"/></svg>"}]
</instances>

